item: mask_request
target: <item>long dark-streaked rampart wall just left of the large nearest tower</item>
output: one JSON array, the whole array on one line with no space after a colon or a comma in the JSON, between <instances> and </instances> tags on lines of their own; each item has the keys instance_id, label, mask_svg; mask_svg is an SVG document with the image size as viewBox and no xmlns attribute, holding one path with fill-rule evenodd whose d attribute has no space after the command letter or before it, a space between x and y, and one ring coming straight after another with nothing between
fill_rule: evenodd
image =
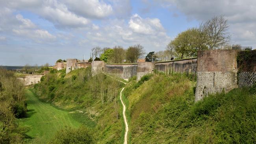
<instances>
[{"instance_id":1,"label":"long dark-streaked rampart wall just left of the large nearest tower","mask_svg":"<svg viewBox=\"0 0 256 144\"><path fill-rule=\"evenodd\" d=\"M179 59L174 61L156 62L156 70L169 72L196 72L197 71L197 57L189 59Z\"/></svg>"}]
</instances>

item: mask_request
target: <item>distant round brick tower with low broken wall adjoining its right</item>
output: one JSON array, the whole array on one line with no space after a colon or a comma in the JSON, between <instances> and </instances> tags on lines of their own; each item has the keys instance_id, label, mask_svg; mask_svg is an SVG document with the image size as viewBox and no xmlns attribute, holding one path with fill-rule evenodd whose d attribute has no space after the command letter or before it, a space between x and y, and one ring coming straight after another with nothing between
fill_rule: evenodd
<instances>
[{"instance_id":1,"label":"distant round brick tower with low broken wall adjoining its right","mask_svg":"<svg viewBox=\"0 0 256 144\"><path fill-rule=\"evenodd\" d=\"M88 61L79 61L78 59L67 59L67 66L66 66L66 74L72 70L76 70L78 68L86 68L91 66L91 63Z\"/></svg>"}]
</instances>

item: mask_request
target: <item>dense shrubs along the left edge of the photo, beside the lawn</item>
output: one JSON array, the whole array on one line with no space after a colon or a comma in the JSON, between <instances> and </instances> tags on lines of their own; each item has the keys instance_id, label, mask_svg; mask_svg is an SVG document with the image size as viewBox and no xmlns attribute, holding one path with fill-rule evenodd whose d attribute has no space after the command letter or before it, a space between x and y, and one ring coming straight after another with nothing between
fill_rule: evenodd
<instances>
[{"instance_id":1,"label":"dense shrubs along the left edge of the photo, beside the lawn","mask_svg":"<svg viewBox=\"0 0 256 144\"><path fill-rule=\"evenodd\" d=\"M29 127L15 121L26 111L24 85L13 72L0 69L0 144L19 144L29 138Z\"/></svg>"}]
</instances>

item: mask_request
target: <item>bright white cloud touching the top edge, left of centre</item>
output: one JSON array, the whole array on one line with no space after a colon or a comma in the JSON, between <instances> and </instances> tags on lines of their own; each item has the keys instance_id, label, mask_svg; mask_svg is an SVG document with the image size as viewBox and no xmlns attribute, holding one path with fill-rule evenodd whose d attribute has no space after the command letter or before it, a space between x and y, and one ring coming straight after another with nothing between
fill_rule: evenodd
<instances>
[{"instance_id":1,"label":"bright white cloud touching the top edge, left of centre","mask_svg":"<svg viewBox=\"0 0 256 144\"><path fill-rule=\"evenodd\" d=\"M65 0L70 11L88 18L104 18L113 13L112 6L99 0Z\"/></svg>"}]
</instances>

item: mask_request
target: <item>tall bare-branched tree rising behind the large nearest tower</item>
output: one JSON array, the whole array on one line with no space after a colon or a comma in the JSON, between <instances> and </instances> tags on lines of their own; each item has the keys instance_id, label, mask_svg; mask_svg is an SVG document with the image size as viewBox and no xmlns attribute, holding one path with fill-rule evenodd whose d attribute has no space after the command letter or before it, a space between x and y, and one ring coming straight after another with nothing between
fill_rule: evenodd
<instances>
[{"instance_id":1,"label":"tall bare-branched tree rising behind the large nearest tower","mask_svg":"<svg viewBox=\"0 0 256 144\"><path fill-rule=\"evenodd\" d=\"M210 50L220 49L230 42L228 20L223 15L214 16L200 27L206 33L206 45Z\"/></svg>"}]
</instances>

